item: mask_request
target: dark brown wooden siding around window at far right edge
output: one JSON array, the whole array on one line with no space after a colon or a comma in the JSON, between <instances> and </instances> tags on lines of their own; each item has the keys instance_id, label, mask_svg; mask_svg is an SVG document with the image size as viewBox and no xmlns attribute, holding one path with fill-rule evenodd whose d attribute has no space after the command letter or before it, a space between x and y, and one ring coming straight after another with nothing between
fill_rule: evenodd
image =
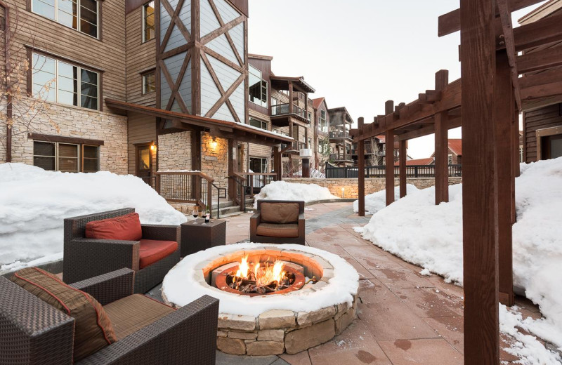
<instances>
[{"instance_id":1,"label":"dark brown wooden siding around window at far right edge","mask_svg":"<svg viewBox=\"0 0 562 365\"><path fill-rule=\"evenodd\" d=\"M525 162L537 161L537 129L562 126L562 104L549 105L523 115Z\"/></svg>"}]
</instances>

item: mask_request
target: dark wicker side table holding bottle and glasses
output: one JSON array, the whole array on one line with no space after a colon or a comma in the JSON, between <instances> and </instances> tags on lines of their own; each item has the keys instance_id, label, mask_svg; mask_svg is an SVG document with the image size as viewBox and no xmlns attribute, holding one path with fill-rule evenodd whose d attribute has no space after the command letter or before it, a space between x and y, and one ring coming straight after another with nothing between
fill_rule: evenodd
<instances>
[{"instance_id":1,"label":"dark wicker side table holding bottle and glasses","mask_svg":"<svg viewBox=\"0 0 562 365\"><path fill-rule=\"evenodd\" d=\"M216 219L203 225L198 219L181 225L181 257L225 244L226 220Z\"/></svg>"}]
</instances>

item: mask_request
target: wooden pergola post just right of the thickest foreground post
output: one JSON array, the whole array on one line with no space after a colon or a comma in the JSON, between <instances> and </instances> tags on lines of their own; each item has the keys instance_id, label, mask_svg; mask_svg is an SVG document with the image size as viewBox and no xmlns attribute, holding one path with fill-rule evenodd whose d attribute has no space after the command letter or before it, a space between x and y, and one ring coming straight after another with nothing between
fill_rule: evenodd
<instances>
[{"instance_id":1,"label":"wooden pergola post just right of the thickest foreground post","mask_svg":"<svg viewBox=\"0 0 562 365\"><path fill-rule=\"evenodd\" d=\"M514 183L512 126L515 110L511 67L506 51L496 53L494 83L495 171L497 184L497 237L499 248L499 301L514 305L513 251L511 234Z\"/></svg>"}]
</instances>

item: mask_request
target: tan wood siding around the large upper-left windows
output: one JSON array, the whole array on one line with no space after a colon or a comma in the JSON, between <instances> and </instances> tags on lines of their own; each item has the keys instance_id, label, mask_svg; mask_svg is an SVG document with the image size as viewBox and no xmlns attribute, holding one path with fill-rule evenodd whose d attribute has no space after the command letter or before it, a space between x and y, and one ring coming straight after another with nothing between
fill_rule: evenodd
<instances>
[{"instance_id":1,"label":"tan wood siding around the large upper-left windows","mask_svg":"<svg viewBox=\"0 0 562 365\"><path fill-rule=\"evenodd\" d=\"M124 0L98 1L100 7L100 39L65 27L41 15L27 11L26 0L15 0L18 32L13 49L21 60L26 58L25 46L34 46L79 64L91 65L100 72L100 97L125 100L125 4ZM13 11L15 13L15 11ZM15 20L13 20L14 22ZM15 24L11 24L15 27ZM22 85L25 88L25 84ZM105 106L100 102L102 108Z\"/></svg>"}]
</instances>

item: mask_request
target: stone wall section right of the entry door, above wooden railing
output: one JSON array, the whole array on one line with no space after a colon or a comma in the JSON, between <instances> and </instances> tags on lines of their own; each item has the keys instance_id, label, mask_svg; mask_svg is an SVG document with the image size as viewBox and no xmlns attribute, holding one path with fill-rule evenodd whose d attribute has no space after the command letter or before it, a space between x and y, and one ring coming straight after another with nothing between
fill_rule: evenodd
<instances>
[{"instance_id":1,"label":"stone wall section right of the entry door, above wooden railing","mask_svg":"<svg viewBox=\"0 0 562 365\"><path fill-rule=\"evenodd\" d=\"M191 132L158 136L158 169L191 170Z\"/></svg>"}]
</instances>

